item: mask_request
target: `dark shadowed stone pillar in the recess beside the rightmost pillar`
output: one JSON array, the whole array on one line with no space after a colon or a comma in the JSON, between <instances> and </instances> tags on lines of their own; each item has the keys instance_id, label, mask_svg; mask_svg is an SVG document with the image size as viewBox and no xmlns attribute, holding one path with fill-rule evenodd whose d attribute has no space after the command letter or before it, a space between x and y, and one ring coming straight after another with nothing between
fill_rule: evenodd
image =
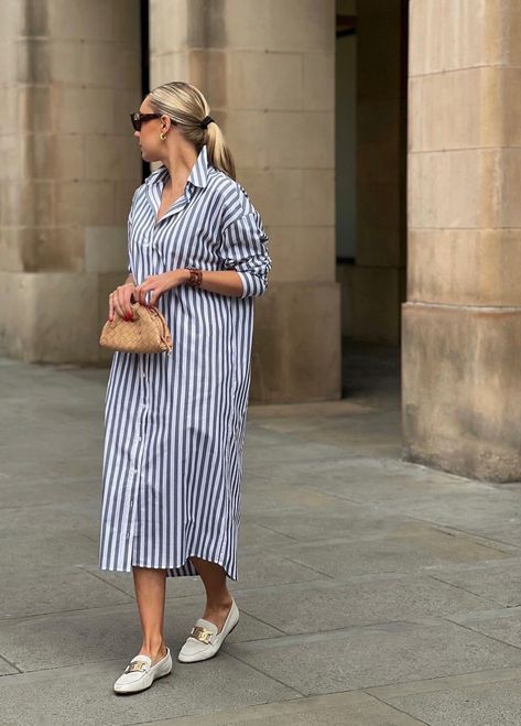
<instances>
[{"instance_id":1,"label":"dark shadowed stone pillar in the recess beside the rightmost pillar","mask_svg":"<svg viewBox=\"0 0 521 726\"><path fill-rule=\"evenodd\" d=\"M394 344L406 299L406 15L404 0L357 3L356 257L338 268L344 332Z\"/></svg>"}]
</instances>

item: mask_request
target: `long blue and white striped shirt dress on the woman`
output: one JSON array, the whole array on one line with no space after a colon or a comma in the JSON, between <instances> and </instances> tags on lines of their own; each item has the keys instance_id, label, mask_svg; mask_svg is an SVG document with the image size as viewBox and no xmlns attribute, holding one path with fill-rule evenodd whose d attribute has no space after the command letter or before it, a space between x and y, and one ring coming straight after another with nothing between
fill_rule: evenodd
<instances>
[{"instance_id":1,"label":"long blue and white striped shirt dress on the woman","mask_svg":"<svg viewBox=\"0 0 521 726\"><path fill-rule=\"evenodd\" d=\"M167 177L161 166L132 198L135 283L178 268L236 270L242 294L170 290L158 307L172 332L172 353L113 354L98 566L194 576L189 557L197 556L237 579L253 299L268 284L268 236L245 188L209 163L206 145L184 194L156 223Z\"/></svg>"}]
</instances>

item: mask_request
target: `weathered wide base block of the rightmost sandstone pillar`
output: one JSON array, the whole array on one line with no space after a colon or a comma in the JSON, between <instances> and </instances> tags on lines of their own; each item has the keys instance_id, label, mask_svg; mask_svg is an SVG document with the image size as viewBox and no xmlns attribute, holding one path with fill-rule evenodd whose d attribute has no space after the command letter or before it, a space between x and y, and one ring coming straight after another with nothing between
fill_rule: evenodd
<instances>
[{"instance_id":1,"label":"weathered wide base block of the rightmost sandstone pillar","mask_svg":"<svg viewBox=\"0 0 521 726\"><path fill-rule=\"evenodd\" d=\"M521 307L402 306L403 458L521 480Z\"/></svg>"}]
</instances>

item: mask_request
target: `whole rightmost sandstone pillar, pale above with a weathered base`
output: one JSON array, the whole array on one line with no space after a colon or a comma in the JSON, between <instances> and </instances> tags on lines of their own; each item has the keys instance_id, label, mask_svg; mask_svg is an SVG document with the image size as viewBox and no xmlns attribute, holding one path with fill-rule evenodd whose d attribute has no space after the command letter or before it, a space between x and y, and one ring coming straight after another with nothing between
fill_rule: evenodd
<instances>
[{"instance_id":1,"label":"whole rightmost sandstone pillar, pale above with a weathered base","mask_svg":"<svg viewBox=\"0 0 521 726\"><path fill-rule=\"evenodd\" d=\"M411 0L405 458L521 478L521 8Z\"/></svg>"}]
</instances>

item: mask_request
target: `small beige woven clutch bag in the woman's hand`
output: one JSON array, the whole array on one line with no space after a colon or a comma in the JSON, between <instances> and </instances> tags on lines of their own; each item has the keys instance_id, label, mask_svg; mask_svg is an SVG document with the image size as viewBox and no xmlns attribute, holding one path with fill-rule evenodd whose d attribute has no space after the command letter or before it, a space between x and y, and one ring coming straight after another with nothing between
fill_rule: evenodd
<instances>
[{"instance_id":1,"label":"small beige woven clutch bag in the woman's hand","mask_svg":"<svg viewBox=\"0 0 521 726\"><path fill-rule=\"evenodd\" d=\"M165 353L172 350L172 335L156 307L132 304L133 319L115 314L101 331L99 345L122 353Z\"/></svg>"}]
</instances>

